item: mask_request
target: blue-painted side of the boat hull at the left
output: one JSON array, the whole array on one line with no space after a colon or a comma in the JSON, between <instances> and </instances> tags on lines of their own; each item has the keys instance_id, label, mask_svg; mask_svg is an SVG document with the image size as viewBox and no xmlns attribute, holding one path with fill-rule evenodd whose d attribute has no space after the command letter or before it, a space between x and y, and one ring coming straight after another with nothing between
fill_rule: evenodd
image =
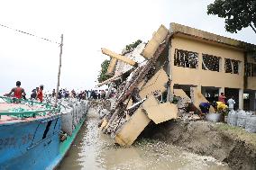
<instances>
[{"instance_id":1,"label":"blue-painted side of the boat hull at the left","mask_svg":"<svg viewBox=\"0 0 256 170\"><path fill-rule=\"evenodd\" d=\"M0 126L0 169L46 169L59 155L60 116Z\"/></svg>"}]
</instances>

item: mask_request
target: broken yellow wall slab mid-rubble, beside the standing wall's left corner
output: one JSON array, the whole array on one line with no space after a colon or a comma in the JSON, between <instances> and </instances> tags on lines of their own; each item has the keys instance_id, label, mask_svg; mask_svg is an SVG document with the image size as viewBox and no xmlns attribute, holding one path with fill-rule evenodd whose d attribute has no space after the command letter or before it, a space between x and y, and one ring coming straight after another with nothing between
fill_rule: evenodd
<instances>
[{"instance_id":1,"label":"broken yellow wall slab mid-rubble, beside the standing wall's left corner","mask_svg":"<svg viewBox=\"0 0 256 170\"><path fill-rule=\"evenodd\" d=\"M166 72L161 68L151 79L146 83L146 85L142 86L142 90L139 95L142 98L150 94L160 95L164 91L167 90L166 83L168 82L169 77Z\"/></svg>"}]
</instances>

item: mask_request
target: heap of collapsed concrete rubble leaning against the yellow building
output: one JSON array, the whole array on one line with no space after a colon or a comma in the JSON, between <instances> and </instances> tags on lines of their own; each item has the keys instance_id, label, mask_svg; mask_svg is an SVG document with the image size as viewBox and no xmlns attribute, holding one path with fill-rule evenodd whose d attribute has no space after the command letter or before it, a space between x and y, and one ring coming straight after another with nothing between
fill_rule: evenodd
<instances>
[{"instance_id":1,"label":"heap of collapsed concrete rubble leaning against the yellow building","mask_svg":"<svg viewBox=\"0 0 256 170\"><path fill-rule=\"evenodd\" d=\"M133 51L119 55L102 49L112 58L111 63L115 62L115 65L110 64L108 70L113 71L114 77L118 76L119 80L119 75L122 78L114 99L111 99L112 107L101 105L98 110L102 118L99 127L121 146L132 145L150 121L158 124L178 116L177 104L163 100L169 94L169 63L166 62L169 36L169 30L161 25L147 44L141 43ZM114 81L112 78L106 83L114 84ZM178 104L186 107L182 101Z\"/></svg>"}]
</instances>

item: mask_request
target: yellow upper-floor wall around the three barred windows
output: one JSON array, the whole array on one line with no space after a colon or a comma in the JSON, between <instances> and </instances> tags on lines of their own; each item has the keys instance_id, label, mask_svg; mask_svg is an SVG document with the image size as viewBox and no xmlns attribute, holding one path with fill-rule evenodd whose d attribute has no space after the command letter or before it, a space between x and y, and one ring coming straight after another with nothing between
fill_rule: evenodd
<instances>
[{"instance_id":1,"label":"yellow upper-floor wall around the three barred windows","mask_svg":"<svg viewBox=\"0 0 256 170\"><path fill-rule=\"evenodd\" d=\"M199 54L198 68L194 69L174 66L175 49L197 52ZM244 59L243 52L241 50L230 49L224 46L217 46L213 43L209 44L204 41L175 36L171 40L170 52L170 74L172 75L172 84L243 88ZM202 69L202 53L221 57L220 72ZM232 58L241 61L239 66L239 75L224 73L224 58Z\"/></svg>"}]
</instances>

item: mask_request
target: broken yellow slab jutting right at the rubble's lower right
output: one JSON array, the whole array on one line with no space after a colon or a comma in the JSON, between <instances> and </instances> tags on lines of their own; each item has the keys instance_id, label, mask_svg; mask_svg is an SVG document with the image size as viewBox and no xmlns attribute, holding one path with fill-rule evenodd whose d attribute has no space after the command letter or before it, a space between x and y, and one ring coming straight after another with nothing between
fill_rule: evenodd
<instances>
[{"instance_id":1,"label":"broken yellow slab jutting right at the rubble's lower right","mask_svg":"<svg viewBox=\"0 0 256 170\"><path fill-rule=\"evenodd\" d=\"M142 108L146 111L148 117L156 124L178 117L178 107L173 103L160 103L153 106L142 105Z\"/></svg>"}]
</instances>

